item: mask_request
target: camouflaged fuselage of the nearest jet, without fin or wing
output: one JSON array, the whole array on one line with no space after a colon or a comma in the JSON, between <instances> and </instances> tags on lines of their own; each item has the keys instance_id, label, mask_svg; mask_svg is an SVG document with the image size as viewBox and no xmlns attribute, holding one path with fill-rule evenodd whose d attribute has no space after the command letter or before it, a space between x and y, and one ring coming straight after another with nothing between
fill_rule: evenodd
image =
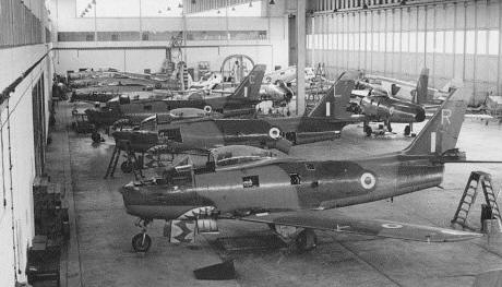
<instances>
[{"instance_id":1,"label":"camouflaged fuselage of the nearest jet, without fin or wing","mask_svg":"<svg viewBox=\"0 0 502 287\"><path fill-rule=\"evenodd\" d=\"M122 195L129 214L151 219L175 219L201 206L222 213L332 208L437 187L443 168L429 156L401 153L359 160L271 159L226 170L172 171L164 182L131 182Z\"/></svg>"}]
</instances>

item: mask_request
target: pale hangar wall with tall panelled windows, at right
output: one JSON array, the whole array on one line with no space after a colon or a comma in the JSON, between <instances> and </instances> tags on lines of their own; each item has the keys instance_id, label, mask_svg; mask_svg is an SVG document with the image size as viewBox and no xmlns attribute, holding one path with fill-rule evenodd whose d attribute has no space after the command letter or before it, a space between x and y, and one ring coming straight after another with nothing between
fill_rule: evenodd
<instances>
[{"instance_id":1,"label":"pale hangar wall with tall panelled windows, at right","mask_svg":"<svg viewBox=\"0 0 502 287\"><path fill-rule=\"evenodd\" d=\"M366 2L368 9L363 1L310 2L309 64L405 80L427 65L435 87L459 79L477 97L502 93L500 1Z\"/></svg>"}]
</instances>

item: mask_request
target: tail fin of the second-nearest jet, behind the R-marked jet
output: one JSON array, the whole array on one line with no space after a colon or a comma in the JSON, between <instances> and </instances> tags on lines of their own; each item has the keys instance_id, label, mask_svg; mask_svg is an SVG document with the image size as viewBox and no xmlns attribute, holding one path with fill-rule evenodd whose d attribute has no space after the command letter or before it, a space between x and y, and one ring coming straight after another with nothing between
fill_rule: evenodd
<instances>
[{"instance_id":1,"label":"tail fin of the second-nearest jet, behind the R-marked jet","mask_svg":"<svg viewBox=\"0 0 502 287\"><path fill-rule=\"evenodd\" d=\"M354 79L344 77L344 75L338 77L338 81L327 91L326 95L315 105L308 117L350 117L347 106L355 85Z\"/></svg>"}]
</instances>

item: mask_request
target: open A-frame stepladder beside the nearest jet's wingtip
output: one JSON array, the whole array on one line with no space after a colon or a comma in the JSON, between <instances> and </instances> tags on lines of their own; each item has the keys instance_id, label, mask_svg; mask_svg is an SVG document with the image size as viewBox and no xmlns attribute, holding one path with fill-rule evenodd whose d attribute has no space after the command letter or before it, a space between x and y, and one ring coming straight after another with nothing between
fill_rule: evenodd
<instances>
[{"instance_id":1,"label":"open A-frame stepladder beside the nearest jet's wingtip","mask_svg":"<svg viewBox=\"0 0 502 287\"><path fill-rule=\"evenodd\" d=\"M467 225L467 216L470 207L476 202L479 189L482 189L487 205L491 210L492 219L499 219L499 222L501 220L499 204L497 203L497 196L491 184L491 175L477 170L470 172L469 179L467 180L467 184L464 189L464 194L458 203L455 216L451 222L452 225L457 224L463 228L473 229Z\"/></svg>"}]
</instances>

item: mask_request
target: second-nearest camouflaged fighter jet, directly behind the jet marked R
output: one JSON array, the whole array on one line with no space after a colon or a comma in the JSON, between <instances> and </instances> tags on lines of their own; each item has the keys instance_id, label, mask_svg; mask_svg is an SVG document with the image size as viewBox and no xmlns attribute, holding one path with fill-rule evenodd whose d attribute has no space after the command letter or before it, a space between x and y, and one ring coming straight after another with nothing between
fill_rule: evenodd
<instances>
[{"instance_id":1,"label":"second-nearest camouflaged fighter jet, directly behind the jet marked R","mask_svg":"<svg viewBox=\"0 0 502 287\"><path fill-rule=\"evenodd\" d=\"M132 151L145 151L153 145L166 144L174 154L179 154L246 144L287 153L292 144L335 139L345 125L360 121L347 112L354 84L351 79L340 79L310 113L301 117L207 117L179 121L162 121L152 117L142 122L140 131L119 131L112 135L116 142L125 143Z\"/></svg>"}]
</instances>

